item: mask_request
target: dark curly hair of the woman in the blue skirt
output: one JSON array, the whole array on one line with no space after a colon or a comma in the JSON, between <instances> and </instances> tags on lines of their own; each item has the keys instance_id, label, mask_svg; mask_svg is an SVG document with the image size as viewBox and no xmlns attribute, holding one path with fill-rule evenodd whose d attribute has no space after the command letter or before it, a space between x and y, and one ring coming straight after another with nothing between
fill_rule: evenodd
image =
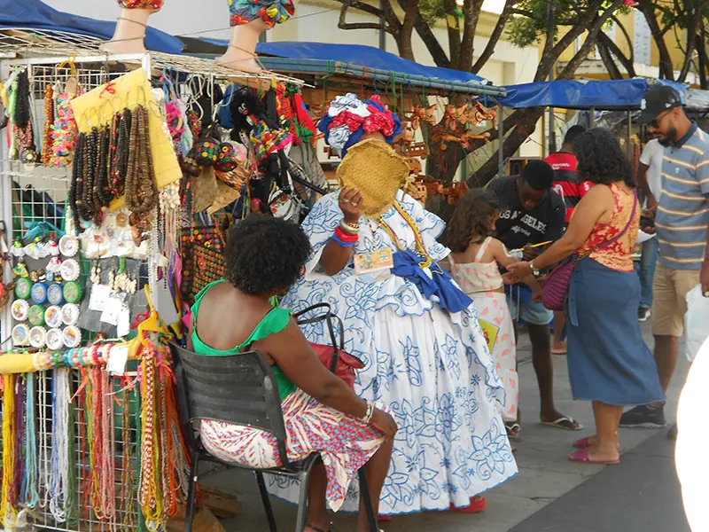
<instances>
[{"instance_id":1,"label":"dark curly hair of the woman in the blue skirt","mask_svg":"<svg viewBox=\"0 0 709 532\"><path fill-rule=\"evenodd\" d=\"M573 153L579 161L576 170L591 183L624 181L635 188L633 168L610 129L589 129L573 141Z\"/></svg>"}]
</instances>

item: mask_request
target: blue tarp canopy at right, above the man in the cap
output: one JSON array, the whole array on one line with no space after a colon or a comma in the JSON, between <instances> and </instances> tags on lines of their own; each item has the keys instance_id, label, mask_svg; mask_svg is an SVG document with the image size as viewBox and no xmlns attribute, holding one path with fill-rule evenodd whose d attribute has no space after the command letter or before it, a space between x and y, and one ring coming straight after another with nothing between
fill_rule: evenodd
<instances>
[{"instance_id":1,"label":"blue tarp canopy at right, above the man in the cap","mask_svg":"<svg viewBox=\"0 0 709 532\"><path fill-rule=\"evenodd\" d=\"M685 101L687 88L682 83L665 80L633 78L629 80L591 80L534 82L505 87L507 96L499 98L503 106L514 109L525 107L560 107L564 109L637 109L645 91L652 83L670 85Z\"/></svg>"}]
</instances>

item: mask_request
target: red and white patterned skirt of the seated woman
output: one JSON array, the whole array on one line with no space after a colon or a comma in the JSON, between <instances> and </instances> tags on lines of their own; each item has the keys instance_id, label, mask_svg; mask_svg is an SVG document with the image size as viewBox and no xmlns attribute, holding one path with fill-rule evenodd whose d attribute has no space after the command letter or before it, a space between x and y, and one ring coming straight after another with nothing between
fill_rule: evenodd
<instances>
[{"instance_id":1,"label":"red and white patterned skirt of the seated woman","mask_svg":"<svg viewBox=\"0 0 709 532\"><path fill-rule=\"evenodd\" d=\"M297 389L281 403L287 440L285 450L292 462L319 452L327 472L326 500L337 512L345 500L355 473L384 442L384 434L361 420L318 403ZM383 405L378 404L379 409ZM226 462L249 467L281 465L273 434L248 426L203 421L201 438L206 450Z\"/></svg>"}]
</instances>

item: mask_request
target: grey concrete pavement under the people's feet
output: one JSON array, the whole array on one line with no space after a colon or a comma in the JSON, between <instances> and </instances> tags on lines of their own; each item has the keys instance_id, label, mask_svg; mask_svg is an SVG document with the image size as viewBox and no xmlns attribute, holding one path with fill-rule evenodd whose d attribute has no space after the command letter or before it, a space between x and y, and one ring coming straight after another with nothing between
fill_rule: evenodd
<instances>
[{"instance_id":1,"label":"grey concrete pavement under the people's feet","mask_svg":"<svg viewBox=\"0 0 709 532\"><path fill-rule=\"evenodd\" d=\"M643 336L652 345L649 325ZM487 510L479 514L425 512L381 523L386 532L689 532L684 519L679 483L674 473L674 446L666 430L621 429L620 465L575 464L567 459L572 442L593 434L590 404L574 402L566 357L554 356L557 409L586 428L578 433L541 426L539 394L526 337L518 350L522 431L515 441L519 474L486 494ZM677 398L688 364L681 356L668 392L666 418L674 421ZM238 470L200 477L206 485L237 495L241 514L222 524L228 532L268 530L250 473ZM292 530L295 508L273 500L279 530ZM354 530L353 515L335 515L339 531Z\"/></svg>"}]
</instances>

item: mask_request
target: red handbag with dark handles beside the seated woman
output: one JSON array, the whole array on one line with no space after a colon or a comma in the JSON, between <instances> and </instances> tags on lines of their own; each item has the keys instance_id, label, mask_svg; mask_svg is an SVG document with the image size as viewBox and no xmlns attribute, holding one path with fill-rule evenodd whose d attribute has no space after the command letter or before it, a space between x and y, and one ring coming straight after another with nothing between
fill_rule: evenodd
<instances>
[{"instance_id":1,"label":"red handbag with dark handles beside the seated woman","mask_svg":"<svg viewBox=\"0 0 709 532\"><path fill-rule=\"evenodd\" d=\"M320 309L323 309L324 313L316 317L303 318L304 315ZM345 326L338 316L332 314L331 306L328 303L318 303L308 307L308 309L300 310L300 312L293 314L293 317L298 325L325 322L328 332L330 332L331 345L310 342L310 347L313 348L316 356L326 368L344 380L347 386L354 389L354 371L362 370L364 363L356 356L350 355L345 351ZM338 335L335 334L335 321L339 325Z\"/></svg>"}]
</instances>

